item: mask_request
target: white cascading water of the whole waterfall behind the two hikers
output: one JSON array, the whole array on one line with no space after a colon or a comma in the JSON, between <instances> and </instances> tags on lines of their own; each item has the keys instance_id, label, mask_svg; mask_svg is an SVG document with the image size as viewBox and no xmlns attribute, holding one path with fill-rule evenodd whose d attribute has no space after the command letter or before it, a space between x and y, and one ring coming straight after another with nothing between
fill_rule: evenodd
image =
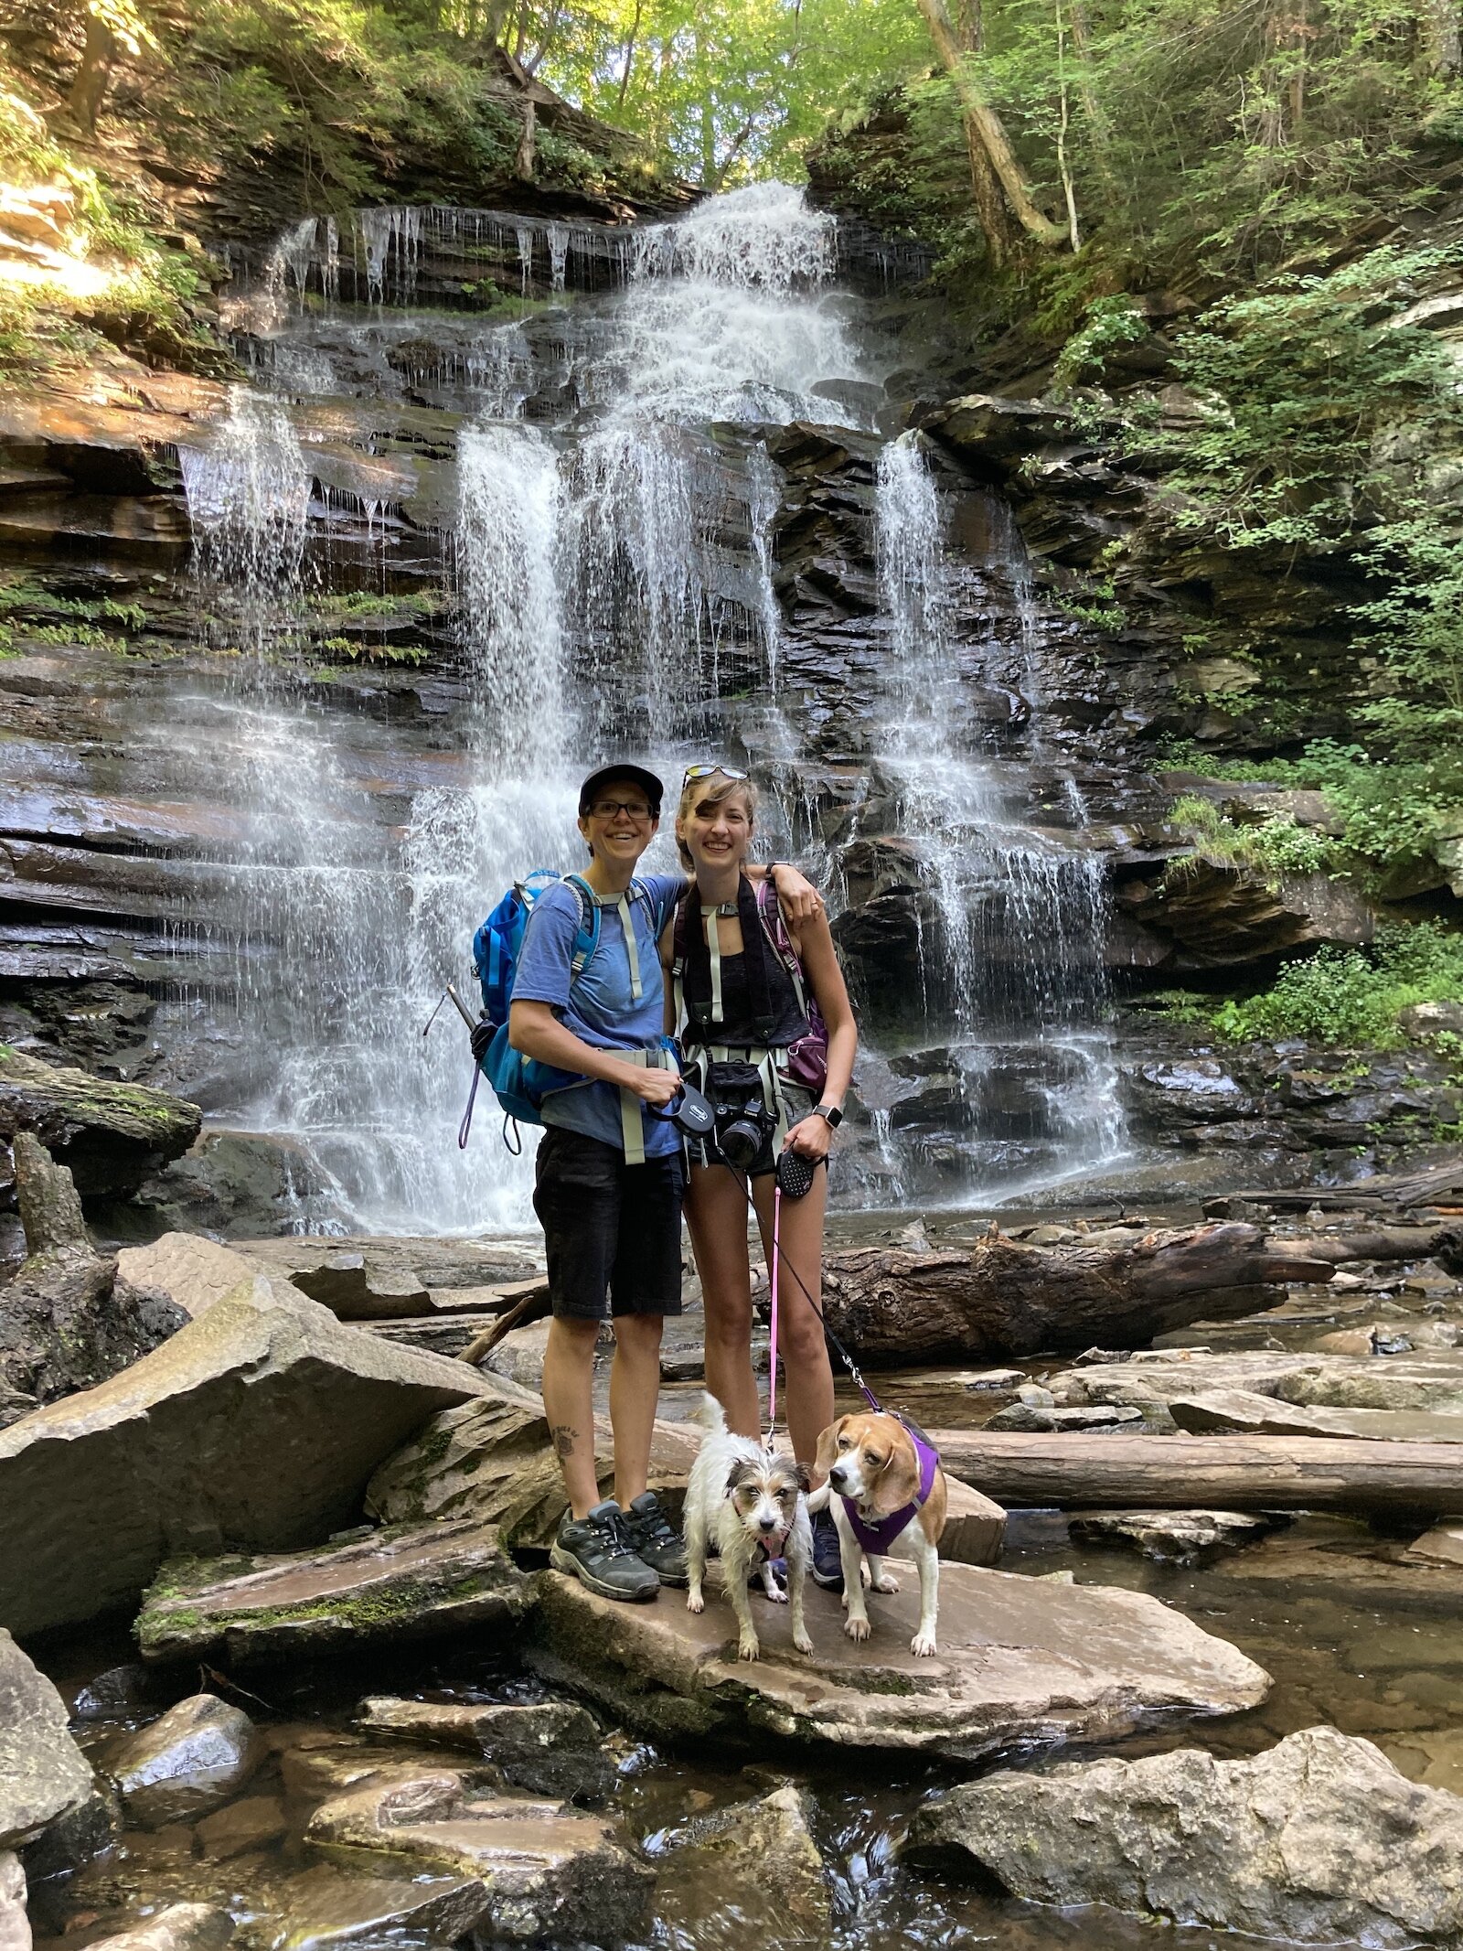
<instances>
[{"instance_id":1,"label":"white cascading water of the whole waterfall behind the two hikers","mask_svg":"<svg viewBox=\"0 0 1463 1951\"><path fill-rule=\"evenodd\" d=\"M289 308L252 357L300 408L240 394L207 453L185 457L201 576L224 591L222 615L254 618L234 632L252 654L240 677L211 704L195 700L189 732L191 763L230 769L240 802L222 872L244 1055L217 1108L302 1143L316 1167L302 1221L515 1225L529 1217L529 1161L497 1143L490 1098L472 1147L455 1145L470 1077L460 1024L443 1016L425 1042L417 1032L447 977L472 993L468 942L509 880L581 858L573 784L587 763L634 751L673 784L687 757L724 743L728 691L767 700L745 720L757 726L747 749L786 788L790 831L821 858L796 704L782 702L786 482L774 453L792 421L860 427L874 449L870 334L831 283L833 220L774 183L618 238L494 213L359 213L337 273L355 265L369 306L332 302L324 254L336 244L320 226L308 238L295 226L287 244L291 283L318 277L326 306ZM439 275L433 252L480 246L505 254L525 289L579 281L595 297L505 324L388 310ZM320 419L324 388L334 396ZM341 476L332 443L353 400L365 402L359 449L378 455L376 429L392 421L371 402L398 398L437 416L408 421L394 449L408 455L404 480L421 466L412 455L455 443L451 462L431 462L447 482L429 501L435 558L414 540L431 535L419 513L404 525L375 474L339 488L349 466ZM310 525L306 548L312 474L332 519ZM915 437L882 447L874 503L891 644L874 771L930 894L929 1011L977 1079L1020 1040L1075 1050L1088 1036L1098 884L1020 823L1014 786L954 730L954 595L940 494ZM351 519L355 540L339 554L332 537ZM386 601L423 576L456 607L447 716L332 714L287 656L302 589L343 579ZM653 858L669 864L665 841ZM1104 1151L1079 1130L1079 1071L1094 1075L1077 1059L1071 1075L1040 1073L1053 1093L1049 1169ZM884 1116L880 1147L888 1190L911 1159L897 1118ZM964 1190L1001 1178L977 1151Z\"/></svg>"}]
</instances>

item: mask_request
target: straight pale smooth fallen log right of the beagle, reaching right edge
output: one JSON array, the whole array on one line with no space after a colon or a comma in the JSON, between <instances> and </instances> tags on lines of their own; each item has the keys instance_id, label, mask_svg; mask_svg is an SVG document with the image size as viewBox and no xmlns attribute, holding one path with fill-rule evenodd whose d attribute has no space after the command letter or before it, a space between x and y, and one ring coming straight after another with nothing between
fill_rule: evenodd
<instances>
[{"instance_id":1,"label":"straight pale smooth fallen log right of the beagle, reaching right edge","mask_svg":"<svg viewBox=\"0 0 1463 1951\"><path fill-rule=\"evenodd\" d=\"M1463 1444L991 1430L930 1442L952 1477L1008 1508L1463 1512Z\"/></svg>"}]
</instances>

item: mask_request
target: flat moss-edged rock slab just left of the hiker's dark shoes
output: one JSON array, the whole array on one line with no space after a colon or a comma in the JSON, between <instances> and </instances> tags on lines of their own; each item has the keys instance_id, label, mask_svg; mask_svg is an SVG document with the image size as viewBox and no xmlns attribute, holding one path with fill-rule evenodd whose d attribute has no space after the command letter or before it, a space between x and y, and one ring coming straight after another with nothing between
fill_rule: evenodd
<instances>
[{"instance_id":1,"label":"flat moss-edged rock slab just left of the hiker's dark shoes","mask_svg":"<svg viewBox=\"0 0 1463 1951\"><path fill-rule=\"evenodd\" d=\"M310 1551L170 1561L135 1631L146 1660L293 1658L468 1627L507 1633L531 1592L494 1526L394 1524Z\"/></svg>"}]
</instances>

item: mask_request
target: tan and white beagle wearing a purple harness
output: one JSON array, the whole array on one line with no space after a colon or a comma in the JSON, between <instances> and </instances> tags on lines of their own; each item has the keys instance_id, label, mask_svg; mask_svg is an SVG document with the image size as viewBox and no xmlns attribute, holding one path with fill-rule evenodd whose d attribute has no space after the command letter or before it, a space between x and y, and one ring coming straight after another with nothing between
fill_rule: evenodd
<instances>
[{"instance_id":1,"label":"tan and white beagle wearing a purple harness","mask_svg":"<svg viewBox=\"0 0 1463 1951\"><path fill-rule=\"evenodd\" d=\"M944 1471L940 1459L899 1416L839 1416L817 1438L817 1471L827 1483L808 1498L810 1510L833 1506L843 1557L843 1631L868 1639L862 1559L876 1592L897 1592L884 1557L897 1553L919 1567L919 1631L909 1651L934 1652L940 1604L938 1543L944 1532Z\"/></svg>"}]
</instances>

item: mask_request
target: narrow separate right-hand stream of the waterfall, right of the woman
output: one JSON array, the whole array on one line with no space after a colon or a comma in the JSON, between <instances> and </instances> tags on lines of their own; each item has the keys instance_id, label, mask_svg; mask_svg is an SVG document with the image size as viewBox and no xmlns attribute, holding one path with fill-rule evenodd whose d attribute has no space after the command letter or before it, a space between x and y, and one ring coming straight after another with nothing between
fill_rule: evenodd
<instances>
[{"instance_id":1,"label":"narrow separate right-hand stream of the waterfall, right of the woman","mask_svg":"<svg viewBox=\"0 0 1463 1951\"><path fill-rule=\"evenodd\" d=\"M897 829L917 849L938 919L919 940L923 1015L954 1028L973 1134L962 1192L1012 1196L1124 1151L1098 1028L1106 880L1094 855L1057 845L1022 817L1022 778L962 737L968 714L940 494L917 433L882 451L876 492L880 595L893 648L882 765L895 786ZM997 523L995 533L1005 542L1001 568L1018 591L1030 665L1030 572L1014 525ZM991 1118L995 1100L999 1118ZM993 1124L1024 1137L1026 1149L1012 1159L997 1141L983 1155L981 1134Z\"/></svg>"}]
</instances>

